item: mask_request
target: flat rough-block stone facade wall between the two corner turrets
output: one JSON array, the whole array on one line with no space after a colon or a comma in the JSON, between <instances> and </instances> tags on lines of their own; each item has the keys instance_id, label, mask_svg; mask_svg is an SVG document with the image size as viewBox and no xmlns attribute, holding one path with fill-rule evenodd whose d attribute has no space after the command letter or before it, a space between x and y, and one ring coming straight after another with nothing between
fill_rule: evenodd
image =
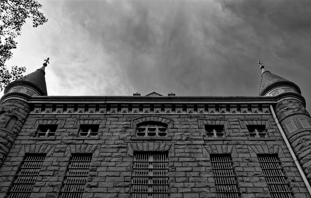
<instances>
[{"instance_id":1,"label":"flat rough-block stone facade wall between the two corner turrets","mask_svg":"<svg viewBox=\"0 0 311 198\"><path fill-rule=\"evenodd\" d=\"M136 124L163 121L165 140L137 140ZM58 124L55 139L35 138L39 124ZM98 139L78 136L80 124L99 124ZM206 137L206 124L223 124L225 137ZM268 138L248 137L247 125L265 125ZM310 197L272 115L29 115L0 169L6 197L26 153L46 153L31 197L57 198L72 153L92 153L84 198L130 197L135 152L169 155L170 198L216 197L211 154L230 154L241 197L271 197L258 154L277 154L297 198Z\"/></svg>"}]
</instances>

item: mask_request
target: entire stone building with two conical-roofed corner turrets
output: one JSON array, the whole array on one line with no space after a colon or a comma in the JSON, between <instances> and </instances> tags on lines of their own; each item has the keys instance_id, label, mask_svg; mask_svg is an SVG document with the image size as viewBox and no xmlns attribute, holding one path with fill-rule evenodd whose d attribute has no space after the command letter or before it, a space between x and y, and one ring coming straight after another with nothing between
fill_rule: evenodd
<instances>
[{"instance_id":1,"label":"entire stone building with two conical-roofed corner turrets","mask_svg":"<svg viewBox=\"0 0 311 198\"><path fill-rule=\"evenodd\" d=\"M262 65L253 97L48 96L44 66L1 98L0 197L310 197L305 99Z\"/></svg>"}]
</instances>

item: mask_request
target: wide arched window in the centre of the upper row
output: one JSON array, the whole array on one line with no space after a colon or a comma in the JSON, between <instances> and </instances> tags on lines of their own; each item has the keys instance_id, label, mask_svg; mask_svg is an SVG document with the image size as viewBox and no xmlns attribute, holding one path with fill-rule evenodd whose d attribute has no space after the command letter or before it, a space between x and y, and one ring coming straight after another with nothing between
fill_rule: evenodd
<instances>
[{"instance_id":1,"label":"wide arched window in the centre of the upper row","mask_svg":"<svg viewBox=\"0 0 311 198\"><path fill-rule=\"evenodd\" d=\"M167 137L167 124L142 123L137 125L137 137Z\"/></svg>"}]
</instances>

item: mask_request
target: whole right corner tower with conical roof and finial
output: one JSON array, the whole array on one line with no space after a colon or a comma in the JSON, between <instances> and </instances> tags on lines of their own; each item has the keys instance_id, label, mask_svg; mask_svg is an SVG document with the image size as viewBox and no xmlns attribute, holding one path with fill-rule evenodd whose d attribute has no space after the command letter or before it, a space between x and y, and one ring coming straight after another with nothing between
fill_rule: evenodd
<instances>
[{"instance_id":1,"label":"whole right corner tower with conical roof and finial","mask_svg":"<svg viewBox=\"0 0 311 198\"><path fill-rule=\"evenodd\" d=\"M294 154L311 183L311 117L305 109L306 103L300 88L295 83L262 70L259 96L274 96L273 110L276 123L281 125ZM280 130L281 130L280 129Z\"/></svg>"}]
</instances>

